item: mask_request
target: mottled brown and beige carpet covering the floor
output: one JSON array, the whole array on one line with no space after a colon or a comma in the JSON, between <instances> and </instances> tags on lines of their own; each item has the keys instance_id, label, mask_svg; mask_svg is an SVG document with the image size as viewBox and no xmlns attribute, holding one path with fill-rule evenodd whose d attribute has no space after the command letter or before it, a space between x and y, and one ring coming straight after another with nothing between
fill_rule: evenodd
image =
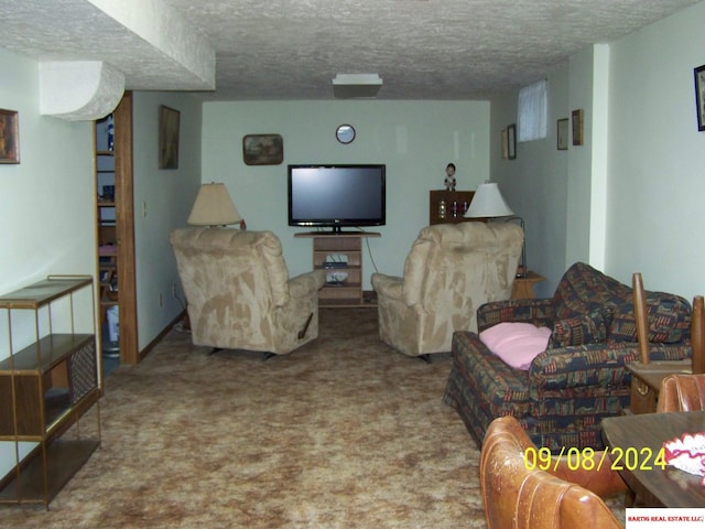
<instances>
[{"instance_id":1,"label":"mottled brown and beige carpet covering the floor","mask_svg":"<svg viewBox=\"0 0 705 529\"><path fill-rule=\"evenodd\" d=\"M322 310L317 341L267 361L172 331L107 377L102 445L51 509L0 506L0 527L485 527L479 452L441 401L449 356L377 328Z\"/></svg>"}]
</instances>

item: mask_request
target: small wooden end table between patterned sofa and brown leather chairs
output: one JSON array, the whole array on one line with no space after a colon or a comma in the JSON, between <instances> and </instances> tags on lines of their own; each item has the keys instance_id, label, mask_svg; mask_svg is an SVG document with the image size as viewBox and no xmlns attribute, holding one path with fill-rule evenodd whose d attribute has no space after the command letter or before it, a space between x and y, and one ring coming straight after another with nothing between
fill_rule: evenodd
<instances>
[{"instance_id":1,"label":"small wooden end table between patterned sofa and brown leather chairs","mask_svg":"<svg viewBox=\"0 0 705 529\"><path fill-rule=\"evenodd\" d=\"M631 413L654 413L659 400L661 381L666 375L692 373L692 361L663 360L642 364L632 361L625 366L631 374L631 395L629 410Z\"/></svg>"}]
</instances>

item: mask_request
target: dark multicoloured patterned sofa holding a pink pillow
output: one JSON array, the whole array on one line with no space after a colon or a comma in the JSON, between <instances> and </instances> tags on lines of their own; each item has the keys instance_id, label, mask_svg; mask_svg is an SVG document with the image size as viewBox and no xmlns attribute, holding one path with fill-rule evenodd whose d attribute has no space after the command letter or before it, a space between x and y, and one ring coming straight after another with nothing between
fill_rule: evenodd
<instances>
[{"instance_id":1,"label":"dark multicoloured patterned sofa holding a pink pillow","mask_svg":"<svg viewBox=\"0 0 705 529\"><path fill-rule=\"evenodd\" d=\"M691 305L681 296L647 292L652 360L691 356ZM513 415L538 446L601 449L600 420L629 407L639 358L631 288L588 264L573 264L551 299L487 303L478 332L500 322L551 328L545 350L528 370L510 367L478 334L456 332L444 402L455 408L478 445L497 417Z\"/></svg>"}]
</instances>

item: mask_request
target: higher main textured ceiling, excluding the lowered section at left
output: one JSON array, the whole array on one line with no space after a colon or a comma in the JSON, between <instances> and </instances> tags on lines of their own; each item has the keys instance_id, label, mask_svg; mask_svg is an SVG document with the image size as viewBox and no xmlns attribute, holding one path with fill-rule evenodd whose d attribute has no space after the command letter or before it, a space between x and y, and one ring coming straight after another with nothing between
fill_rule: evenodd
<instances>
[{"instance_id":1,"label":"higher main textured ceiling, excluding the lowered section at left","mask_svg":"<svg viewBox=\"0 0 705 529\"><path fill-rule=\"evenodd\" d=\"M688 0L169 0L210 37L238 98L332 98L336 73L376 73L378 99L485 99Z\"/></svg>"}]
</instances>

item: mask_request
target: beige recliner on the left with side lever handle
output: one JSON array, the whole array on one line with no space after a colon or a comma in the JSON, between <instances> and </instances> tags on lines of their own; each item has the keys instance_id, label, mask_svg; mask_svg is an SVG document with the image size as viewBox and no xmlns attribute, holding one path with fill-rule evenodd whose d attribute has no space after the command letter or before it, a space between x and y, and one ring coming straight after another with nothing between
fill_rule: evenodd
<instances>
[{"instance_id":1,"label":"beige recliner on the left with side lever handle","mask_svg":"<svg viewBox=\"0 0 705 529\"><path fill-rule=\"evenodd\" d=\"M183 228L170 239L195 345L283 355L318 336L325 273L289 279L271 231Z\"/></svg>"}]
</instances>

